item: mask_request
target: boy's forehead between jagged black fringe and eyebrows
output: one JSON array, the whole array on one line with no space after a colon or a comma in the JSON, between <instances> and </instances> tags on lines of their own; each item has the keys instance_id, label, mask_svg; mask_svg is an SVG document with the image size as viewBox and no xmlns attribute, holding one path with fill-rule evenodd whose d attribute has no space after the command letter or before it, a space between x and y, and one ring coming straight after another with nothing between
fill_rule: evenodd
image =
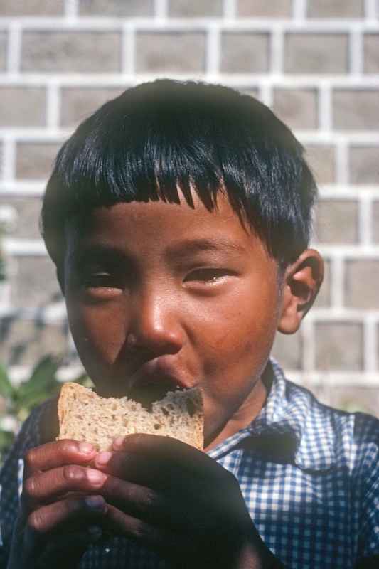
<instances>
[{"instance_id":1,"label":"boy's forehead between jagged black fringe and eyebrows","mask_svg":"<svg viewBox=\"0 0 379 569\"><path fill-rule=\"evenodd\" d=\"M262 241L222 193L212 211L196 193L193 193L193 207L183 196L180 198L180 203L133 201L95 208L84 223L83 220L68 223L68 250L99 243L120 250L127 248L137 256L176 248L267 255Z\"/></svg>"}]
</instances>

